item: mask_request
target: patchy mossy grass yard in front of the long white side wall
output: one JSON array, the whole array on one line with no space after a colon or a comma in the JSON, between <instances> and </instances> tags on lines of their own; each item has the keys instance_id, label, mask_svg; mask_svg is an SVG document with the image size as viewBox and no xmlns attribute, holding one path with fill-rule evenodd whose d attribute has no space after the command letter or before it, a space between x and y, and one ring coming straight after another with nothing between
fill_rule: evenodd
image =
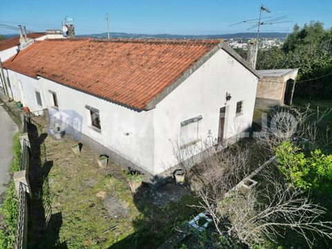
<instances>
[{"instance_id":1,"label":"patchy mossy grass yard in front of the long white side wall","mask_svg":"<svg viewBox=\"0 0 332 249\"><path fill-rule=\"evenodd\" d=\"M46 229L30 233L30 248L156 248L199 212L188 206L196 203L188 194L165 206L156 205L163 193L150 194L149 187L131 194L118 165L109 162L101 169L99 155L83 145L77 156L71 150L75 143L68 136L45 140L50 170L37 198ZM181 189L171 185L171 191ZM30 221L29 232L39 222Z\"/></svg>"}]
</instances>

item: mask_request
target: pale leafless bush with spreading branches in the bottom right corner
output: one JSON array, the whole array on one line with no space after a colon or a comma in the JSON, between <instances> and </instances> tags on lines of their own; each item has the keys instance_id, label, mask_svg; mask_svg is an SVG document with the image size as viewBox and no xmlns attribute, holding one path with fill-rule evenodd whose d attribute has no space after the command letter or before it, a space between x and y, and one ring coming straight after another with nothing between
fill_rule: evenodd
<instances>
[{"instance_id":1,"label":"pale leafless bush with spreading branches in the bottom right corner","mask_svg":"<svg viewBox=\"0 0 332 249\"><path fill-rule=\"evenodd\" d=\"M264 203L259 201L262 199ZM311 203L299 190L279 183L274 183L273 190L233 192L219 205L218 212L228 234L248 246L283 237L283 228L300 234L309 247L315 236L332 239L332 222L319 219L324 208Z\"/></svg>"}]
</instances>

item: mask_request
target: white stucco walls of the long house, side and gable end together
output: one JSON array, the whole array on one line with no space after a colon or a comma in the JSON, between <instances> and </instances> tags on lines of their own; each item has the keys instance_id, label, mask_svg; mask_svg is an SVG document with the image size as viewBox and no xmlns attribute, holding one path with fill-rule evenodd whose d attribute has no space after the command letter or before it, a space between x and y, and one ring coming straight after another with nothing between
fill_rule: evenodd
<instances>
[{"instance_id":1,"label":"white stucco walls of the long house, side and gable end together","mask_svg":"<svg viewBox=\"0 0 332 249\"><path fill-rule=\"evenodd\" d=\"M223 50L208 59L150 111L133 111L44 78L37 80L10 70L8 76L16 101L22 101L19 86L22 82L25 105L30 110L47 108L50 115L62 116L71 127L151 174L159 174L177 164L172 142L178 140L180 123L184 120L201 115L200 136L205 138L210 130L216 138L219 110L227 107L225 138L250 127L257 89L257 77ZM43 107L37 104L35 90L41 93ZM53 108L49 91L57 94L58 109ZM225 100L226 92L232 95L228 102ZM243 114L235 117L238 101L243 101ZM99 109L101 132L91 128L86 105ZM77 125L75 120L80 124Z\"/></svg>"}]
</instances>

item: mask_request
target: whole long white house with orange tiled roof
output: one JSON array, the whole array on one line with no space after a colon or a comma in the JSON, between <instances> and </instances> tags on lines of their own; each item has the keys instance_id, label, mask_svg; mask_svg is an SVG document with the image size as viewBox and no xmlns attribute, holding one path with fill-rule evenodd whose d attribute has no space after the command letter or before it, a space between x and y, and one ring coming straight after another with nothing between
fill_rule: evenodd
<instances>
[{"instance_id":1,"label":"whole long white house with orange tiled roof","mask_svg":"<svg viewBox=\"0 0 332 249\"><path fill-rule=\"evenodd\" d=\"M12 98L48 109L54 129L152 175L177 164L177 142L248 131L259 78L217 40L45 40L4 68Z\"/></svg>"}]
</instances>

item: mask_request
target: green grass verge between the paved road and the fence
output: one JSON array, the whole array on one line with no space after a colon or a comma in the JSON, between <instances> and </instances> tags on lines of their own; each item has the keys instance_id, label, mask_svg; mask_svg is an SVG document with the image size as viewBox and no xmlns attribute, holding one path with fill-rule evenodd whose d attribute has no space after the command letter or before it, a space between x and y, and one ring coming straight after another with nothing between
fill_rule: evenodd
<instances>
[{"instance_id":1,"label":"green grass verge between the paved road and the fence","mask_svg":"<svg viewBox=\"0 0 332 249\"><path fill-rule=\"evenodd\" d=\"M12 162L10 163L10 172L19 170L21 163L21 144L19 142L19 133L12 138ZM14 181L10 180L6 190L5 198L0 208L1 227L0 230L0 248L14 248L15 235L17 230L18 200Z\"/></svg>"}]
</instances>

